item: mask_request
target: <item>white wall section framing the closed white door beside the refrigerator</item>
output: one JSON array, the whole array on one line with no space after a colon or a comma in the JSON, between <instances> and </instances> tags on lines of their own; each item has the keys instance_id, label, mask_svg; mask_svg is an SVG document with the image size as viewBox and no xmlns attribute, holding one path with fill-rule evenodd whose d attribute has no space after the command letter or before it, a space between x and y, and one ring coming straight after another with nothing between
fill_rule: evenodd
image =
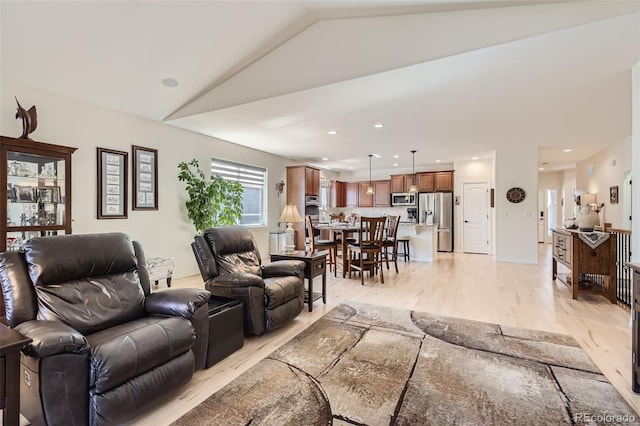
<instances>
[{"instance_id":1,"label":"white wall section framing the closed white door beside the refrigerator","mask_svg":"<svg viewBox=\"0 0 640 426\"><path fill-rule=\"evenodd\" d=\"M454 251L462 253L464 250L464 235L463 235L463 184L465 183L480 183L486 182L489 184L489 188L493 187L493 159L486 160L470 160L470 161L456 161L454 164L455 173L454 177L454 189L453 196L460 197L460 204L453 206L453 218L454 218ZM489 253L495 253L495 245L493 238L492 226L495 216L495 208L489 208Z\"/></svg>"}]
</instances>

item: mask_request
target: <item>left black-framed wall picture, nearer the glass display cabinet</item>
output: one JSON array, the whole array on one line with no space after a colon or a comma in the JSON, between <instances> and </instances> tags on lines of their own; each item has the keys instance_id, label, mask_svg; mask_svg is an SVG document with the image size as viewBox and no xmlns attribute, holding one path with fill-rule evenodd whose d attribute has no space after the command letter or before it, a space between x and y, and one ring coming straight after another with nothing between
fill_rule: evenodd
<instances>
[{"instance_id":1,"label":"left black-framed wall picture, nearer the glass display cabinet","mask_svg":"<svg viewBox=\"0 0 640 426\"><path fill-rule=\"evenodd\" d=\"M127 218L127 157L98 148L98 219Z\"/></svg>"}]
</instances>

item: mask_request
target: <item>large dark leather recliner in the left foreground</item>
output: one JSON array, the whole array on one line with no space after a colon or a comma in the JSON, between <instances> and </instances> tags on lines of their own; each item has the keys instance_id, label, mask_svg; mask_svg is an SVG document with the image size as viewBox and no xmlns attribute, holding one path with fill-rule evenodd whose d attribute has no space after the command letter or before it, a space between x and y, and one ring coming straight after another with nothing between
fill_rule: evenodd
<instances>
[{"instance_id":1,"label":"large dark leather recliner in the left foreground","mask_svg":"<svg viewBox=\"0 0 640 426\"><path fill-rule=\"evenodd\" d=\"M0 254L7 322L33 339L20 371L32 424L122 424L203 368L209 292L151 294L143 259L121 233L36 238Z\"/></svg>"}]
</instances>

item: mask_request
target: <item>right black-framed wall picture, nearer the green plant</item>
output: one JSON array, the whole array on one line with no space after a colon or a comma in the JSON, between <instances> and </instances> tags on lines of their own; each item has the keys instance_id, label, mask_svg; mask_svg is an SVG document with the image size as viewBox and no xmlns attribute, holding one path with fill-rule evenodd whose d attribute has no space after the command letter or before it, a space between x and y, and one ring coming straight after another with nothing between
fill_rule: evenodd
<instances>
[{"instance_id":1,"label":"right black-framed wall picture, nearer the green plant","mask_svg":"<svg viewBox=\"0 0 640 426\"><path fill-rule=\"evenodd\" d=\"M133 210L158 210L158 150L132 146Z\"/></svg>"}]
</instances>

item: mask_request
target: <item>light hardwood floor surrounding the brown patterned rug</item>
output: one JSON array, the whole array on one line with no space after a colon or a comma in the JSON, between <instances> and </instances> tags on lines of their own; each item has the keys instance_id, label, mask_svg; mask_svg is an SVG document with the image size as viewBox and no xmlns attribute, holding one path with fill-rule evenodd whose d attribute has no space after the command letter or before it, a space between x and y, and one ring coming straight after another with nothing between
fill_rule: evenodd
<instances>
[{"instance_id":1,"label":"light hardwood floor surrounding the brown patterned rug","mask_svg":"<svg viewBox=\"0 0 640 426\"><path fill-rule=\"evenodd\" d=\"M246 337L241 350L196 372L191 382L134 424L171 423L346 300L569 334L640 414L640 395L631 391L629 310L601 296L572 300L567 286L551 280L550 245L539 245L538 265L501 263L487 255L438 253L434 263L399 261L398 267L398 274L393 265L385 270L384 284L367 276L365 286L360 279L334 278L327 271L326 305L316 301L313 312L305 305L302 314L284 328ZM316 280L320 287L320 278ZM175 280L173 287L203 287L203 282L194 276Z\"/></svg>"}]
</instances>

